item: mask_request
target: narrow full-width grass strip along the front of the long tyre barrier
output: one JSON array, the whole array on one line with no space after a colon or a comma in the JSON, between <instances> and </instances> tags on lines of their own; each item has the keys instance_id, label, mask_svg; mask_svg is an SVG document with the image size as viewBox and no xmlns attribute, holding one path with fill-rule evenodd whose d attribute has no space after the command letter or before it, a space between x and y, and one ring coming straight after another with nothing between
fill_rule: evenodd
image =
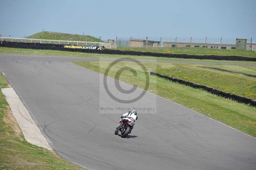
<instances>
[{"instance_id":1,"label":"narrow full-width grass strip along the front of the long tyre barrier","mask_svg":"<svg viewBox=\"0 0 256 170\"><path fill-rule=\"evenodd\" d=\"M19 49L0 47L2 54L24 54L24 55L44 55L44 56L66 56L66 57L92 57L92 58L121 58L129 57L140 60L155 60L157 61L173 61L173 62L217 62L217 63L233 63L233 64L256 64L251 61L225 61L225 60L200 60L200 59L183 59L183 58L165 58L151 56L130 56L130 55L111 55L111 54L92 54L84 52L70 52L57 50L34 50L34 49Z\"/></svg>"}]
</instances>

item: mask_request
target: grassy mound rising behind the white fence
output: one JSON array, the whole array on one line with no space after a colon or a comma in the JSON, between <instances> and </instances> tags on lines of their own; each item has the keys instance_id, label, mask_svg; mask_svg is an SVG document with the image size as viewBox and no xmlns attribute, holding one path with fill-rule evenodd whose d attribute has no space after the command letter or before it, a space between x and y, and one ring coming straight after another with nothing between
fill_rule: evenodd
<instances>
[{"instance_id":1,"label":"grassy mound rising behind the white fence","mask_svg":"<svg viewBox=\"0 0 256 170\"><path fill-rule=\"evenodd\" d=\"M41 39L55 40L55 35L56 35L56 40L85 41L85 36L87 36L88 42L100 42L99 38L95 38L90 35L67 34L67 33L58 33L58 32L50 32L50 31L36 33L26 38L40 39L40 36L41 36ZM101 42L103 41L101 40Z\"/></svg>"}]
</instances>

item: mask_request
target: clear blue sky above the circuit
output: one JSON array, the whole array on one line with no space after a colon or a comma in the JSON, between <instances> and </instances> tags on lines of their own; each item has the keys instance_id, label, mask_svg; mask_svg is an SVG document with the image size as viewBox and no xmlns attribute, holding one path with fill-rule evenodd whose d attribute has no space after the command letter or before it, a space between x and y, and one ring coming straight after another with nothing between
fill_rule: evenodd
<instances>
[{"instance_id":1,"label":"clear blue sky above the circuit","mask_svg":"<svg viewBox=\"0 0 256 170\"><path fill-rule=\"evenodd\" d=\"M0 34L44 30L102 39L212 37L256 39L255 0L1 0ZM254 42L256 42L254 40Z\"/></svg>"}]
</instances>

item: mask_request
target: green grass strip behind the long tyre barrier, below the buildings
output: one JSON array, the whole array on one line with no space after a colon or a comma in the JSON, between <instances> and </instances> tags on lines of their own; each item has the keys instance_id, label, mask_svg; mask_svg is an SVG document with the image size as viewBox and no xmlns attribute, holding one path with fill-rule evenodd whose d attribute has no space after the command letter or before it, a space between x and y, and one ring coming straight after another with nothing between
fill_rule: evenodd
<instances>
[{"instance_id":1,"label":"green grass strip behind the long tyre barrier, below the buildings","mask_svg":"<svg viewBox=\"0 0 256 170\"><path fill-rule=\"evenodd\" d=\"M220 50L220 49L206 49L203 47L118 47L116 50L132 50L132 51L147 51L147 52L163 52L175 54L193 54L193 55L218 55L218 56L244 56L256 57L256 52L249 50Z\"/></svg>"}]
</instances>

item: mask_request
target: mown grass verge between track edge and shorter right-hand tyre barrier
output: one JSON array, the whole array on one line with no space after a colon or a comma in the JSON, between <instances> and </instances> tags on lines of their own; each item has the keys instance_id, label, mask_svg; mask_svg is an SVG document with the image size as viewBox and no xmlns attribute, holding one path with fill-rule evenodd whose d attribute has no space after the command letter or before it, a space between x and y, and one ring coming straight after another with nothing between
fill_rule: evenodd
<instances>
[{"instance_id":1,"label":"mown grass verge between track edge and shorter right-hand tyre barrier","mask_svg":"<svg viewBox=\"0 0 256 170\"><path fill-rule=\"evenodd\" d=\"M107 61L74 61L76 65L88 68L98 73L104 73L105 69L111 62ZM176 66L170 63L143 63L148 69L148 72L156 68L167 68ZM112 67L108 76L115 77L118 69L121 67L134 68L138 76L134 77L131 72L123 72L120 81L129 84L138 84L138 87L144 88L145 75L139 66L131 62L118 63ZM230 82L230 84L232 81ZM208 93L202 89L194 89L177 82L168 81L158 76L150 75L150 83L148 91L156 95L162 96L168 100L186 106L192 110L200 112L208 117L218 120L233 128L236 128L244 133L256 136L256 107L248 106L246 104L238 103L236 101L228 100Z\"/></svg>"}]
</instances>

